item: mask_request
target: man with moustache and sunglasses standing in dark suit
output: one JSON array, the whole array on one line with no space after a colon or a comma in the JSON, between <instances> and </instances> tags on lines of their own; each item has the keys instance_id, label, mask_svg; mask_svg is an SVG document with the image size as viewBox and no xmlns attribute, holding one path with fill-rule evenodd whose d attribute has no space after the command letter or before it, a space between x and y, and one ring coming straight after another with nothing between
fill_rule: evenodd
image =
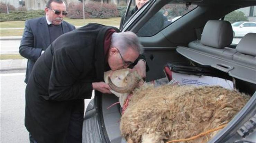
<instances>
[{"instance_id":1,"label":"man with moustache and sunglasses standing in dark suit","mask_svg":"<svg viewBox=\"0 0 256 143\"><path fill-rule=\"evenodd\" d=\"M28 81L36 60L46 48L60 35L75 29L75 26L63 21L67 11L62 0L48 0L45 13L45 17L30 19L25 22L19 47L20 55L28 59L25 83Z\"/></svg>"}]
</instances>

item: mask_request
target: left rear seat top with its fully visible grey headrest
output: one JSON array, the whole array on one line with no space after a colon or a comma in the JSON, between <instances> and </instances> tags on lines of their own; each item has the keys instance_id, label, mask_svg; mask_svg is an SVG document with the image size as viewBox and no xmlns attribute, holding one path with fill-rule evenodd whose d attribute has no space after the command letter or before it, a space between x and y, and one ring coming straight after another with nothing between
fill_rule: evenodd
<instances>
[{"instance_id":1,"label":"left rear seat top with its fully visible grey headrest","mask_svg":"<svg viewBox=\"0 0 256 143\"><path fill-rule=\"evenodd\" d=\"M237 51L226 47L232 40L232 26L228 21L209 20L204 26L201 41L190 42L189 48L232 59Z\"/></svg>"}]
</instances>

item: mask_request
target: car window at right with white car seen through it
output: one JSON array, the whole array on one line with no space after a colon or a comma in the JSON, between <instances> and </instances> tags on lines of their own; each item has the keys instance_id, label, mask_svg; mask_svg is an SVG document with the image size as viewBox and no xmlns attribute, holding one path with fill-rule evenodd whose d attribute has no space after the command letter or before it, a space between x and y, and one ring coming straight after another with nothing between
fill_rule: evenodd
<instances>
[{"instance_id":1,"label":"car window at right with white car seen through it","mask_svg":"<svg viewBox=\"0 0 256 143\"><path fill-rule=\"evenodd\" d=\"M238 44L247 33L256 33L256 6L230 12L224 20L229 21L232 25L234 36L232 44Z\"/></svg>"}]
</instances>

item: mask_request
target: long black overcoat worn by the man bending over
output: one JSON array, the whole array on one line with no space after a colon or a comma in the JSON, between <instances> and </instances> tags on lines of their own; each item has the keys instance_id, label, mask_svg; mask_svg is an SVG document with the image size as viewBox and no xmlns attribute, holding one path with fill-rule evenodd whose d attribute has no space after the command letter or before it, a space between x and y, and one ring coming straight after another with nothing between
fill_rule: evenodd
<instances>
[{"instance_id":1,"label":"long black overcoat worn by the man bending over","mask_svg":"<svg viewBox=\"0 0 256 143\"><path fill-rule=\"evenodd\" d=\"M63 143L72 107L83 106L92 82L103 81L109 29L119 31L88 24L63 34L36 61L26 87L25 126L38 143Z\"/></svg>"}]
</instances>

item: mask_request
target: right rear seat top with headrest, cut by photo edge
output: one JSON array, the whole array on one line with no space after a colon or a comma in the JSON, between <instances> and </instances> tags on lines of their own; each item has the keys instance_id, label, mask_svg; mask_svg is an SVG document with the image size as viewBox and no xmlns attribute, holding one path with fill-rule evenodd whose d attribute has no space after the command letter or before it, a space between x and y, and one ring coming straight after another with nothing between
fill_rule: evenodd
<instances>
[{"instance_id":1,"label":"right rear seat top with headrest, cut by photo edge","mask_svg":"<svg viewBox=\"0 0 256 143\"><path fill-rule=\"evenodd\" d=\"M256 33L246 34L238 43L236 51L234 61L256 65Z\"/></svg>"}]
</instances>

